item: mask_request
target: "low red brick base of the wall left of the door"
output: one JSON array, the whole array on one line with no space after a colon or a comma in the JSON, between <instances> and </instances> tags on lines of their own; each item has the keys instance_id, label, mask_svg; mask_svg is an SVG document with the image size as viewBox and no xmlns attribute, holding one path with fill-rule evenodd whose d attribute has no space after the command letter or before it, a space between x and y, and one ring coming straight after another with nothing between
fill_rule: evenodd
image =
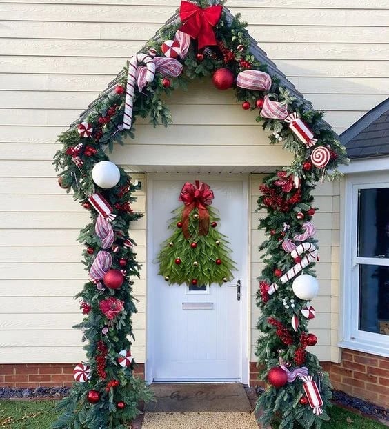
<instances>
[{"instance_id":1,"label":"low red brick base of the wall left of the door","mask_svg":"<svg viewBox=\"0 0 389 429\"><path fill-rule=\"evenodd\" d=\"M71 386L74 382L74 364L69 363L20 363L0 364L0 387L36 388ZM139 363L135 374L144 378L144 365Z\"/></svg>"}]
</instances>

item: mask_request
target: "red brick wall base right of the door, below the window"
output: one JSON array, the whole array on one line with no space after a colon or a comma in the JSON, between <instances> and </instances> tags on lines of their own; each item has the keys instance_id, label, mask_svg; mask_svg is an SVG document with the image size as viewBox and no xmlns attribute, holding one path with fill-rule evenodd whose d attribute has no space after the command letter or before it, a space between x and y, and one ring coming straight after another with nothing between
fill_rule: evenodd
<instances>
[{"instance_id":1,"label":"red brick wall base right of the door, below the window","mask_svg":"<svg viewBox=\"0 0 389 429\"><path fill-rule=\"evenodd\" d=\"M389 408L389 358L342 350L341 363L321 362L330 374L332 386L349 395ZM258 381L259 369L250 363L250 386L264 386Z\"/></svg>"}]
</instances>

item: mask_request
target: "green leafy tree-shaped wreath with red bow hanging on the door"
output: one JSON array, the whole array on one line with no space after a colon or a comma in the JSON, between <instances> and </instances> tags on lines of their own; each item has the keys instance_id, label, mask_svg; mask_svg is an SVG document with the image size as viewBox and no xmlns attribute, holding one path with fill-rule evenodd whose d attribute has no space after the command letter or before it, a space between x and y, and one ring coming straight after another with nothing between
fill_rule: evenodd
<instances>
[{"instance_id":1,"label":"green leafy tree-shaped wreath with red bow hanging on the door","mask_svg":"<svg viewBox=\"0 0 389 429\"><path fill-rule=\"evenodd\" d=\"M171 237L158 255L159 275L171 284L188 286L222 285L233 279L235 262L230 259L227 237L217 230L216 210L210 205L214 194L207 183L183 185L169 228Z\"/></svg>"}]
</instances>

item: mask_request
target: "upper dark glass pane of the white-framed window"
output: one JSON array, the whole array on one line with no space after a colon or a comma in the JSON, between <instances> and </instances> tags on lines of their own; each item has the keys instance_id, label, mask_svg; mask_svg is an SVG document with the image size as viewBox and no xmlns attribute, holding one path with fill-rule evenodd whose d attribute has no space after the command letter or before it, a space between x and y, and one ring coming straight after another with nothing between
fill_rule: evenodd
<instances>
[{"instance_id":1,"label":"upper dark glass pane of the white-framed window","mask_svg":"<svg viewBox=\"0 0 389 429\"><path fill-rule=\"evenodd\" d=\"M359 257L389 257L389 188L359 189Z\"/></svg>"}]
</instances>

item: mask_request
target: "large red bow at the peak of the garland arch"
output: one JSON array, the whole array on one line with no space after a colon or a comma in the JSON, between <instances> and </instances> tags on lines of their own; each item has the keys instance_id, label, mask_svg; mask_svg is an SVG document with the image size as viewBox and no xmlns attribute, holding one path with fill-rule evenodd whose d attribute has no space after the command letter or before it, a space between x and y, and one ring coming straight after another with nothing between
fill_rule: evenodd
<instances>
[{"instance_id":1,"label":"large red bow at the peak of the garland arch","mask_svg":"<svg viewBox=\"0 0 389 429\"><path fill-rule=\"evenodd\" d=\"M183 22L180 30L197 39L199 49L204 46L216 45L215 33L212 27L216 26L221 17L223 6L210 6L201 9L188 1L181 1L179 17Z\"/></svg>"}]
</instances>

